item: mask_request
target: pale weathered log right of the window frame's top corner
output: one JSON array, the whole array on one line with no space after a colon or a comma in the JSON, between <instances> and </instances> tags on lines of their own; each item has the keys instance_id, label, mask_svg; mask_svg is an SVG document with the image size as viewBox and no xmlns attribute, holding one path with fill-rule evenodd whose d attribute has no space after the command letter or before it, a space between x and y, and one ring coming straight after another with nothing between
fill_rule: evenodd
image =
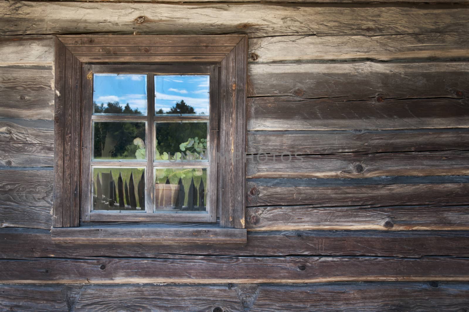
<instances>
[{"instance_id":1,"label":"pale weathered log right of the window frame's top corner","mask_svg":"<svg viewBox=\"0 0 469 312\"><path fill-rule=\"evenodd\" d=\"M463 59L468 32L389 36L281 36L250 40L250 62Z\"/></svg>"}]
</instances>

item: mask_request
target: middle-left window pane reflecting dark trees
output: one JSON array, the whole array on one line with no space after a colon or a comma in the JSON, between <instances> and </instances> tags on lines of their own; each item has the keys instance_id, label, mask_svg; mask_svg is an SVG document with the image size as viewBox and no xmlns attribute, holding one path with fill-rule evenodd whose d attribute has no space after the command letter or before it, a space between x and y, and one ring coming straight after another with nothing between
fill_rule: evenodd
<instances>
[{"instance_id":1,"label":"middle-left window pane reflecting dark trees","mask_svg":"<svg viewBox=\"0 0 469 312\"><path fill-rule=\"evenodd\" d=\"M93 122L94 159L145 159L144 122Z\"/></svg>"}]
</instances>

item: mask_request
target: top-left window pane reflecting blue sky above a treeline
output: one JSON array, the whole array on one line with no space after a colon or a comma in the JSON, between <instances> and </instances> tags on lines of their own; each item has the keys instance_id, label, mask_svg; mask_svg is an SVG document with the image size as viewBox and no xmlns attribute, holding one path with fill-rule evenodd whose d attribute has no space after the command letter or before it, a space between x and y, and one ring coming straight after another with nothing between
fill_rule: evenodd
<instances>
[{"instance_id":1,"label":"top-left window pane reflecting blue sky above a treeline","mask_svg":"<svg viewBox=\"0 0 469 312\"><path fill-rule=\"evenodd\" d=\"M146 115L146 75L94 74L94 114Z\"/></svg>"}]
</instances>

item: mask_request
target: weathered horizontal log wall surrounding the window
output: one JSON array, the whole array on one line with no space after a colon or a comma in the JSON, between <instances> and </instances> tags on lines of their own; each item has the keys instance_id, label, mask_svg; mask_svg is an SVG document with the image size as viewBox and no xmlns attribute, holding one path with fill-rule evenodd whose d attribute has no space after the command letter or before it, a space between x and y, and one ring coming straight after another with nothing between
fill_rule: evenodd
<instances>
[{"instance_id":1,"label":"weathered horizontal log wall surrounding the window","mask_svg":"<svg viewBox=\"0 0 469 312\"><path fill-rule=\"evenodd\" d=\"M0 3L0 311L469 311L467 2L158 2ZM53 35L94 33L249 36L246 245L51 239Z\"/></svg>"}]
</instances>

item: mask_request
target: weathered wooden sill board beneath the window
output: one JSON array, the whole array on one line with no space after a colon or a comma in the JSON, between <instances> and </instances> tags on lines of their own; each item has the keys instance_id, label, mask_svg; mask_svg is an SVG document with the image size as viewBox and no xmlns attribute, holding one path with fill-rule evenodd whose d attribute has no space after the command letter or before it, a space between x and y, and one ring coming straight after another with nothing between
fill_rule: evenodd
<instances>
[{"instance_id":1,"label":"weathered wooden sill board beneath the window","mask_svg":"<svg viewBox=\"0 0 469 312\"><path fill-rule=\"evenodd\" d=\"M56 242L246 243L246 229L57 227Z\"/></svg>"}]
</instances>

